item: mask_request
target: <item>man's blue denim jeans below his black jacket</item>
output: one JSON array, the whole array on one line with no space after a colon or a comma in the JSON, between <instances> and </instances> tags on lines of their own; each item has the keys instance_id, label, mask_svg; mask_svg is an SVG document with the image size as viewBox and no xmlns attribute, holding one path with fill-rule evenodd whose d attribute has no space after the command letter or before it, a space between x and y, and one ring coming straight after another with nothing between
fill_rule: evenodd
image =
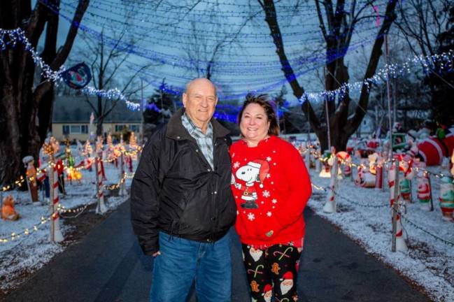
<instances>
[{"instance_id":1,"label":"man's blue denim jeans below his black jacket","mask_svg":"<svg viewBox=\"0 0 454 302\"><path fill-rule=\"evenodd\" d=\"M159 232L150 302L183 302L195 280L198 302L231 300L230 238L200 243Z\"/></svg>"}]
</instances>

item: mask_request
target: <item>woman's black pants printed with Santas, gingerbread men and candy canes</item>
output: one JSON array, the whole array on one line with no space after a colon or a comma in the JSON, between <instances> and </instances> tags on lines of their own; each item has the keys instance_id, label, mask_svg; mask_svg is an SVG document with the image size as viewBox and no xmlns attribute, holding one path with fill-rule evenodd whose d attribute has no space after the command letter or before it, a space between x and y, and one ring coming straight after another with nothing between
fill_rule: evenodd
<instances>
[{"instance_id":1,"label":"woman's black pants printed with Santas, gingerbread men and candy canes","mask_svg":"<svg viewBox=\"0 0 454 302\"><path fill-rule=\"evenodd\" d=\"M301 252L290 245L271 245L264 250L242 244L243 261L252 301L298 301L297 274Z\"/></svg>"}]
</instances>

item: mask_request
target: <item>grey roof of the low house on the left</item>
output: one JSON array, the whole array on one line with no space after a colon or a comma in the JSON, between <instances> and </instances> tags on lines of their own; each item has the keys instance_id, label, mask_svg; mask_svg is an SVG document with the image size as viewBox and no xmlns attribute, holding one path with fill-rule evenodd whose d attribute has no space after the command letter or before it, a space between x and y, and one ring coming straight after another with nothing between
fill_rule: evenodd
<instances>
[{"instance_id":1,"label":"grey roof of the low house on the left","mask_svg":"<svg viewBox=\"0 0 454 302\"><path fill-rule=\"evenodd\" d=\"M96 96L90 96L90 101L97 106ZM104 104L104 100L103 100ZM111 106L111 101L107 101ZM86 96L55 96L52 112L52 122L55 123L89 123L93 109L87 103ZM127 108L126 103L118 101L111 113L107 115L104 122L141 122L141 111L133 111Z\"/></svg>"}]
</instances>

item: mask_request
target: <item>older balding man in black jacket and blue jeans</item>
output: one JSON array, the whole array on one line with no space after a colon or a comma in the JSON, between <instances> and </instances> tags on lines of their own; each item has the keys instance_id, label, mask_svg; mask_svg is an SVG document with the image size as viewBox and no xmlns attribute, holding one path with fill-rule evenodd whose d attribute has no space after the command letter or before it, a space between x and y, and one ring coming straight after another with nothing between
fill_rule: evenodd
<instances>
[{"instance_id":1,"label":"older balding man in black jacket and blue jeans","mask_svg":"<svg viewBox=\"0 0 454 302\"><path fill-rule=\"evenodd\" d=\"M218 97L192 80L183 105L143 149L131 187L134 232L155 257L150 301L230 301L227 231L236 206L230 190L229 131L214 120Z\"/></svg>"}]
</instances>

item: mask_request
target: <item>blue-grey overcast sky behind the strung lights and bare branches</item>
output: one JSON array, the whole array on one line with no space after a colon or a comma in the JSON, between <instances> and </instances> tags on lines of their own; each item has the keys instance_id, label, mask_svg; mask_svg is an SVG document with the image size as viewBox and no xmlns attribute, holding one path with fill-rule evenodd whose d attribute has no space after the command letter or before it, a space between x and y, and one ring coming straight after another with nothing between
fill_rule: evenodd
<instances>
[{"instance_id":1,"label":"blue-grey overcast sky behind the strung lights and bare branches","mask_svg":"<svg viewBox=\"0 0 454 302\"><path fill-rule=\"evenodd\" d=\"M59 43L64 42L70 24L67 19L72 18L77 2L61 1ZM197 64L191 64L190 55L199 59L199 67L204 67L211 59L216 45L232 40L234 35L234 43L226 43L229 46L221 48L214 60L212 79L220 87L222 97L243 98L249 91L271 94L278 92L285 84L285 78L269 35L269 27L264 22L262 8L257 2L248 0L222 0L218 1L218 5L213 5L213 2L215 1L201 1L189 11L170 7L166 5L166 1L155 7L152 1L146 0L92 0L83 17L82 26L88 33L87 36L93 39L98 38L97 33L103 26L106 35L113 38L118 36L125 27L125 22L128 22L130 37L136 41L129 48L132 55L127 62L128 69L134 71L147 63L158 65L142 74L142 78L150 84L146 94L159 87L162 78L166 78L169 85L182 89L187 80L201 74L194 67ZM299 76L299 82L302 82L306 91L311 92L322 90L317 73L322 73L324 52L320 48L323 43L315 6L313 1L306 2L302 1L302 6L295 10L291 6L295 1L281 1L276 9L285 51ZM169 3L182 5L184 1ZM379 10L383 12L387 1L378 3ZM366 13L372 14L372 8ZM252 15L254 17L248 20ZM360 64L368 55L376 31L373 19L357 26L357 34L350 44L347 57L347 64L354 63L350 64L349 70L352 80L360 80L362 77ZM83 43L77 39L71 59L87 60L78 57L79 53L75 51L81 45ZM315 52L318 49L321 51ZM290 87L288 99L297 103Z\"/></svg>"}]
</instances>

